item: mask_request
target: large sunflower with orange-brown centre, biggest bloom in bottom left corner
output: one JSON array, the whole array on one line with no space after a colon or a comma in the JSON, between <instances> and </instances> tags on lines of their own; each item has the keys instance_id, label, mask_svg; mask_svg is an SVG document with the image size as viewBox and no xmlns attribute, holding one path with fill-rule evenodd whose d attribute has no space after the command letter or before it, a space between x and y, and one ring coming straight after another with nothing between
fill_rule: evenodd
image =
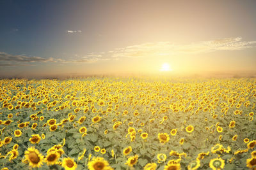
<instances>
[{"instance_id":1,"label":"large sunflower with orange-brown centre, biggest bloom in bottom left corner","mask_svg":"<svg viewBox=\"0 0 256 170\"><path fill-rule=\"evenodd\" d=\"M41 167L44 162L44 156L34 147L28 148L25 152L25 158L29 162L29 166Z\"/></svg>"}]
</instances>

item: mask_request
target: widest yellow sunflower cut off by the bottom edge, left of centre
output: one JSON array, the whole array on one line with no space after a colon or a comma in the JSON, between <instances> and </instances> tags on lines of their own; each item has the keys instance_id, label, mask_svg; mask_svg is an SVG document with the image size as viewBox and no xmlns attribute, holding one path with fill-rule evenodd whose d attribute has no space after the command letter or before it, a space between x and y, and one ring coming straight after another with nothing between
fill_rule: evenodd
<instances>
[{"instance_id":1,"label":"widest yellow sunflower cut off by the bottom edge, left of centre","mask_svg":"<svg viewBox=\"0 0 256 170\"><path fill-rule=\"evenodd\" d=\"M87 164L89 170L112 170L107 160L102 157L93 157Z\"/></svg>"}]
</instances>

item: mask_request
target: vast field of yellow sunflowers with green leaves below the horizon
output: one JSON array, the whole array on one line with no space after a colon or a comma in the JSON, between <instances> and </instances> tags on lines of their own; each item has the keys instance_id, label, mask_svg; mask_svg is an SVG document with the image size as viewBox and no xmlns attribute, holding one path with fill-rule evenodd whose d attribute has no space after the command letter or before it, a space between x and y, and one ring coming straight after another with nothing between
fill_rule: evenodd
<instances>
[{"instance_id":1,"label":"vast field of yellow sunflowers with green leaves below the horizon","mask_svg":"<svg viewBox=\"0 0 256 170\"><path fill-rule=\"evenodd\" d=\"M3 169L256 169L256 80L0 80Z\"/></svg>"}]
</instances>

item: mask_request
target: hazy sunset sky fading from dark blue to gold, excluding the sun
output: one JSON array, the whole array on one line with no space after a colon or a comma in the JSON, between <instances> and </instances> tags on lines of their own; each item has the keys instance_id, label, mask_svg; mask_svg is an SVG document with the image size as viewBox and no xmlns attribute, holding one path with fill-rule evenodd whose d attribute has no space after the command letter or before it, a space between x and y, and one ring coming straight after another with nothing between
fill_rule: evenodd
<instances>
[{"instance_id":1,"label":"hazy sunset sky fading from dark blue to gold, excluding the sun","mask_svg":"<svg viewBox=\"0 0 256 170\"><path fill-rule=\"evenodd\" d=\"M0 76L256 73L256 1L0 1Z\"/></svg>"}]
</instances>

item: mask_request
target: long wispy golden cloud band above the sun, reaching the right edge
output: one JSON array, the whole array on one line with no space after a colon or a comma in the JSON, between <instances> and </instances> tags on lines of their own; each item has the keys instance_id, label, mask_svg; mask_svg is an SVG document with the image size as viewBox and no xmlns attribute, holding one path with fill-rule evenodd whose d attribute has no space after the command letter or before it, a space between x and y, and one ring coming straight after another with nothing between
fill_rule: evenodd
<instances>
[{"instance_id":1,"label":"long wispy golden cloud band above the sun, reaching the right edge","mask_svg":"<svg viewBox=\"0 0 256 170\"><path fill-rule=\"evenodd\" d=\"M114 50L103 52L104 55L99 57L98 60L120 59L124 57L161 57L163 55L209 53L220 50L243 50L255 47L256 41L241 40L242 38L240 37L222 38L211 41L199 41L185 45L171 43L170 41L143 43L140 45L125 46L123 48L115 48ZM101 53L93 53L93 55L99 55Z\"/></svg>"}]
</instances>

